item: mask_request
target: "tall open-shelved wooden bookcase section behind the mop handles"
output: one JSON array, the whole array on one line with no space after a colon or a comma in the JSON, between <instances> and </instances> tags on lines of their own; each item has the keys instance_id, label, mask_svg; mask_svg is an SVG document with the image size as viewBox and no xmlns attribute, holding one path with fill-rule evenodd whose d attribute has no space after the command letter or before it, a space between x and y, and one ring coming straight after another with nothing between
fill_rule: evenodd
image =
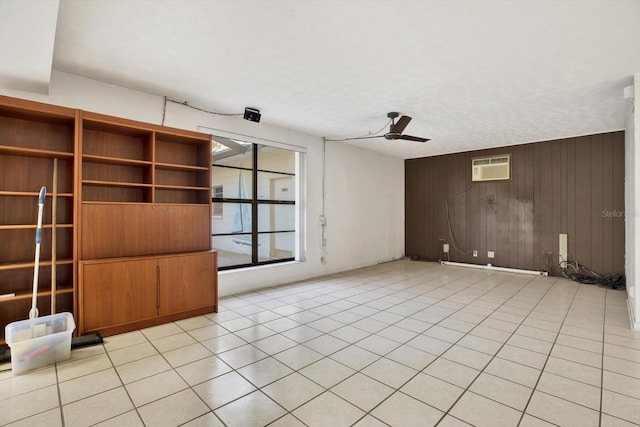
<instances>
[{"instance_id":1,"label":"tall open-shelved wooden bookcase section behind the mop handles","mask_svg":"<svg viewBox=\"0 0 640 427\"><path fill-rule=\"evenodd\" d=\"M51 292L52 203L47 194L38 281L38 310L76 311L76 111L0 96L0 344L4 327L28 317L31 307L38 193L53 187L58 159L56 291Z\"/></svg>"}]
</instances>

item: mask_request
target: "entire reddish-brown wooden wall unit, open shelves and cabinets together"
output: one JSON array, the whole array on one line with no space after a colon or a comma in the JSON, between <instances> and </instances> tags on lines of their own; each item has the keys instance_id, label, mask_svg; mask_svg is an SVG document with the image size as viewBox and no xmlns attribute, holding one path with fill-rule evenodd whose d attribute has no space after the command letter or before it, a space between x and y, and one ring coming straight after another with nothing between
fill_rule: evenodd
<instances>
[{"instance_id":1,"label":"entire reddish-brown wooden wall unit, open shelves and cabinets together","mask_svg":"<svg viewBox=\"0 0 640 427\"><path fill-rule=\"evenodd\" d=\"M57 311L104 335L217 311L208 135L0 97L0 327L28 316L58 159ZM47 194L50 196L50 194ZM38 308L51 295L45 202Z\"/></svg>"}]
</instances>

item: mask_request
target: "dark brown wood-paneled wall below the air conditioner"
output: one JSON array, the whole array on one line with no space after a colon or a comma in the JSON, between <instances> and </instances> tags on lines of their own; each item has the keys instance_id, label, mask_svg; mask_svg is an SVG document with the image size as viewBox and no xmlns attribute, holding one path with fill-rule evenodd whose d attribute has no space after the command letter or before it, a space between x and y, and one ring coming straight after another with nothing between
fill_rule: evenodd
<instances>
[{"instance_id":1,"label":"dark brown wood-paneled wall below the air conditioner","mask_svg":"<svg viewBox=\"0 0 640 427\"><path fill-rule=\"evenodd\" d=\"M471 159L500 154L511 179L473 183ZM624 132L409 159L405 181L407 256L439 259L442 239L451 261L558 275L566 233L570 260L624 273Z\"/></svg>"}]
</instances>

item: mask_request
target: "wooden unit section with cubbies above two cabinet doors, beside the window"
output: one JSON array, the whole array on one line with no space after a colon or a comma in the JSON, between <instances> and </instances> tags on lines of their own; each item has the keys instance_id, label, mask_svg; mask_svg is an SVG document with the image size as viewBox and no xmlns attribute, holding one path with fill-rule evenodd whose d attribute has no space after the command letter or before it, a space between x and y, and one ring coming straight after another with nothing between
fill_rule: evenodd
<instances>
[{"instance_id":1,"label":"wooden unit section with cubbies above two cabinet doors, beside the window","mask_svg":"<svg viewBox=\"0 0 640 427\"><path fill-rule=\"evenodd\" d=\"M210 138L84 113L79 149L80 330L217 311Z\"/></svg>"}]
</instances>

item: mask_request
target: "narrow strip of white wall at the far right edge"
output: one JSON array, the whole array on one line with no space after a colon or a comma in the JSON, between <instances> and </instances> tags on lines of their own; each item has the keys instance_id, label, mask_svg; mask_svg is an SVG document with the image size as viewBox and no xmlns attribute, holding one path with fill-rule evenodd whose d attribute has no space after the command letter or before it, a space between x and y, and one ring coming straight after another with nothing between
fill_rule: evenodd
<instances>
[{"instance_id":1,"label":"narrow strip of white wall at the far right edge","mask_svg":"<svg viewBox=\"0 0 640 427\"><path fill-rule=\"evenodd\" d=\"M625 274L631 326L640 330L640 74L634 76L634 99L625 128Z\"/></svg>"}]
</instances>

